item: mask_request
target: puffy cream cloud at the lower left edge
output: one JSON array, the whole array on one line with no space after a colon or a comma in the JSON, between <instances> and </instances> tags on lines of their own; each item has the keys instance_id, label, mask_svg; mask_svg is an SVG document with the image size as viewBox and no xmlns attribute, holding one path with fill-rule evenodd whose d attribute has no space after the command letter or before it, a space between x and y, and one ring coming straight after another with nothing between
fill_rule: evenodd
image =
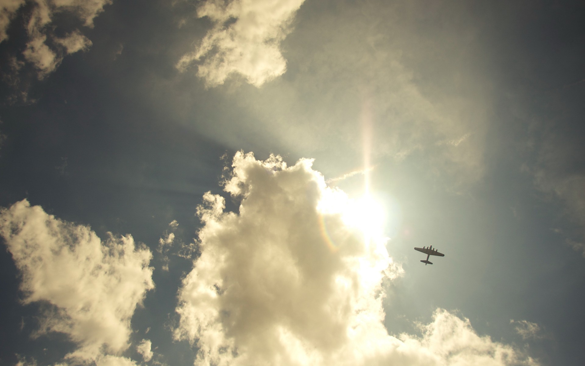
<instances>
[{"instance_id":1,"label":"puffy cream cloud at the lower left edge","mask_svg":"<svg viewBox=\"0 0 585 366\"><path fill-rule=\"evenodd\" d=\"M129 346L132 314L154 288L149 249L130 235L101 241L27 200L0 210L0 235L22 273L23 303L51 305L36 335L67 334L78 348L66 358L118 362L102 354Z\"/></svg>"}]
</instances>

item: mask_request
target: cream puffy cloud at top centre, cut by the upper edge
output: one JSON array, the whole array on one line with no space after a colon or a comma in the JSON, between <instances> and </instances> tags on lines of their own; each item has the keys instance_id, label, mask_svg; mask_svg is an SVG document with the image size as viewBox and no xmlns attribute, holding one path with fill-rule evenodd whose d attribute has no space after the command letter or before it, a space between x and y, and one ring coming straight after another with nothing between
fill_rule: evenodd
<instances>
[{"instance_id":1,"label":"cream puffy cloud at top centre, cut by the upper edge","mask_svg":"<svg viewBox=\"0 0 585 366\"><path fill-rule=\"evenodd\" d=\"M208 0L197 9L199 18L214 24L194 52L177 63L185 71L202 60L197 74L209 87L223 84L232 74L260 87L284 73L280 43L291 32L295 12L304 0Z\"/></svg>"}]
</instances>

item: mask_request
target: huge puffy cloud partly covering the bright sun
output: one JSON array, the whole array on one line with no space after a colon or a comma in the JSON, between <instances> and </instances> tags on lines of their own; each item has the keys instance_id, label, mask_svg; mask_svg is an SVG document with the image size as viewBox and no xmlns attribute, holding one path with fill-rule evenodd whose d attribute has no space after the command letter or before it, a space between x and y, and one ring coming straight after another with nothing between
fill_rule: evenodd
<instances>
[{"instance_id":1,"label":"huge puffy cloud partly covering the bright sun","mask_svg":"<svg viewBox=\"0 0 585 366\"><path fill-rule=\"evenodd\" d=\"M421 336L391 336L383 283L403 271L383 237L364 240L346 219L355 202L310 159L238 152L232 167L224 187L239 213L204 195L201 255L179 290L174 334L196 344L195 365L537 364L442 309Z\"/></svg>"}]
</instances>

